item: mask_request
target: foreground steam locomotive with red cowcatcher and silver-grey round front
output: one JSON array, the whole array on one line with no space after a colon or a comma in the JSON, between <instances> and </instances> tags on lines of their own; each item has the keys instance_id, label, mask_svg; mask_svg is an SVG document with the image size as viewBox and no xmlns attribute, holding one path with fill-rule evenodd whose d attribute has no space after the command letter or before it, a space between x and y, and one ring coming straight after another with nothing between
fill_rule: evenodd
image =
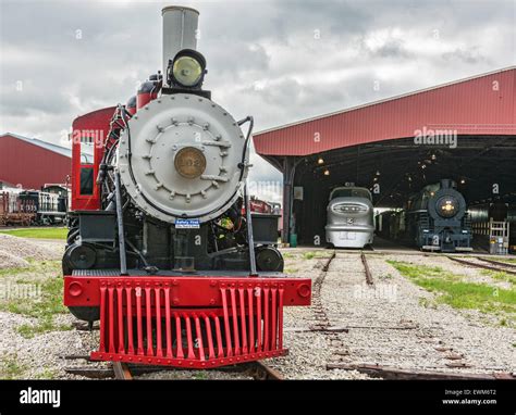
<instances>
[{"instance_id":1,"label":"foreground steam locomotive with red cowcatcher and silver-grey round front","mask_svg":"<svg viewBox=\"0 0 516 415\"><path fill-rule=\"evenodd\" d=\"M253 117L236 122L202 89L198 12L162 16L163 72L74 122L64 303L100 319L97 361L207 368L285 354L283 307L308 305L311 281L283 275L278 215L251 213Z\"/></svg>"}]
</instances>

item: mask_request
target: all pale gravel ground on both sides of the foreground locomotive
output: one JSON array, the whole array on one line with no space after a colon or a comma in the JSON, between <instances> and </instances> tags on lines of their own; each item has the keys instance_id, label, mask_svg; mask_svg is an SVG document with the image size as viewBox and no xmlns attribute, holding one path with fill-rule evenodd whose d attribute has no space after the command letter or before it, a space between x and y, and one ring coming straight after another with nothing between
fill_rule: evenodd
<instances>
[{"instance_id":1,"label":"all pale gravel ground on both sides of the foreground locomotive","mask_svg":"<svg viewBox=\"0 0 516 415\"><path fill-rule=\"evenodd\" d=\"M63 242L60 241L0 235L0 267L4 269L28 266L30 261L58 260L62 252ZM332 251L290 249L284 253L290 277L310 278L315 282L323 274L322 266ZM516 370L514 329L490 325L479 313L432 302L435 294L414 285L386 261L440 266L472 281L499 281L481 275L478 269L437 255L371 252L367 256L374 286L366 285L359 252L337 251L319 285L319 297L314 305L284 310L284 344L290 349L288 355L265 363L287 379L369 378L357 370L328 370L327 364L334 363L453 373ZM0 278L15 279L15 275L0 275ZM427 302L421 299L432 306L425 306ZM330 327L347 327L348 332L310 331L310 327L321 324L321 315L328 318ZM69 328L76 322L70 314L59 314L54 319L57 326ZM64 359L95 350L98 330L61 329L36 334L30 339L19 332L21 326L35 324L36 318L0 312L0 359L2 364L16 362L20 370L13 377L77 379L81 377L66 374L64 367L108 367L108 363ZM469 367L446 366L454 362ZM249 376L230 370L163 370L138 378L200 380L249 379Z\"/></svg>"}]
</instances>

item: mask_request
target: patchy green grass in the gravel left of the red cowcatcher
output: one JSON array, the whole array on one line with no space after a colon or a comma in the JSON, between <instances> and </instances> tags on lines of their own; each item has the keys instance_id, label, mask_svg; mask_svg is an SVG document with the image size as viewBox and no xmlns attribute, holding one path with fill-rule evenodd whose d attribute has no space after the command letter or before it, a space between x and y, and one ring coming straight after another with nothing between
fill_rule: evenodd
<instances>
[{"instance_id":1,"label":"patchy green grass in the gravel left of the red cowcatcher","mask_svg":"<svg viewBox=\"0 0 516 415\"><path fill-rule=\"evenodd\" d=\"M62 301L63 278L60 265L59 261L32 262L30 266L24 269L26 274L50 276L40 281L29 279L26 275L17 278L16 286L10 287L12 292L9 292L4 300L0 300L0 310L36 318L35 324L24 324L16 328L25 338L72 328L69 325L58 325L53 319L57 314L67 313Z\"/></svg>"}]
</instances>

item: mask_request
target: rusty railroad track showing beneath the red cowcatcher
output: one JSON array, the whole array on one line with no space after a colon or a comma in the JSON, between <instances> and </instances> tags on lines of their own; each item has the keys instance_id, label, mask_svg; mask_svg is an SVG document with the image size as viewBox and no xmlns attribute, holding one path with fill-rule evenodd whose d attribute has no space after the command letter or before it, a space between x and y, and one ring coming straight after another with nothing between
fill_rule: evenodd
<instances>
[{"instance_id":1,"label":"rusty railroad track showing beneath the red cowcatcher","mask_svg":"<svg viewBox=\"0 0 516 415\"><path fill-rule=\"evenodd\" d=\"M64 356L66 360L82 359L89 361L88 355ZM82 376L89 379L116 379L135 380L137 376L163 370L175 370L173 367L133 365L124 362L113 362L108 367L76 366L65 367L64 370L70 375ZM283 380L283 375L277 369L268 366L263 362L248 362L241 365L220 367L219 370L232 372L253 377L255 380Z\"/></svg>"}]
</instances>

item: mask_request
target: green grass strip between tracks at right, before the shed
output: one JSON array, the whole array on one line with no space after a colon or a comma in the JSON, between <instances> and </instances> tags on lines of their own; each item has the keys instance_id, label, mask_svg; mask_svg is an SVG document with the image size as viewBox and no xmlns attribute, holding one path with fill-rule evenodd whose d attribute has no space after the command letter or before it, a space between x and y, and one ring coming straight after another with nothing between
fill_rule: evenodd
<instances>
[{"instance_id":1,"label":"green grass strip between tracks at right, before the shed","mask_svg":"<svg viewBox=\"0 0 516 415\"><path fill-rule=\"evenodd\" d=\"M501 315L501 325L516 322L516 290L501 289L487 284L465 282L460 275L442 271L440 267L414 265L406 262L388 261L403 276L427 291L438 294L435 301L454 309L479 310Z\"/></svg>"}]
</instances>

